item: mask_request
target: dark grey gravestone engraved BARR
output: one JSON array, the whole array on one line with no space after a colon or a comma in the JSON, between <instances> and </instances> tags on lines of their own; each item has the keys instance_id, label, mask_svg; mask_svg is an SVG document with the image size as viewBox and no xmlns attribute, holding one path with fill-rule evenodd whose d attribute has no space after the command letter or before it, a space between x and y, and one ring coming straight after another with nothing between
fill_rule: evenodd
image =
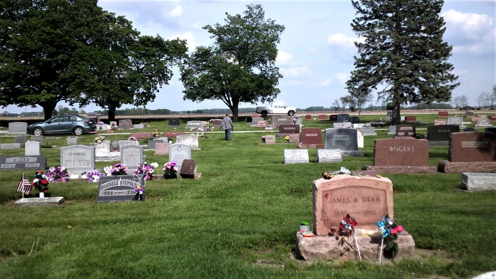
<instances>
[{"instance_id":1,"label":"dark grey gravestone engraved BARR","mask_svg":"<svg viewBox=\"0 0 496 279\"><path fill-rule=\"evenodd\" d=\"M325 129L324 149L341 149L341 156L363 156L358 151L357 130L353 128Z\"/></svg>"}]
</instances>

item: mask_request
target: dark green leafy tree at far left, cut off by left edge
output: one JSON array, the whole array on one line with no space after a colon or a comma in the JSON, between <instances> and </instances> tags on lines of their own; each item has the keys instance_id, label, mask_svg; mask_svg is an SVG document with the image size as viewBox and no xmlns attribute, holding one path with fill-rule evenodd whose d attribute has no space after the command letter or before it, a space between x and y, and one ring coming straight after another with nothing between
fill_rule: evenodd
<instances>
[{"instance_id":1,"label":"dark green leafy tree at far left, cut off by left edge","mask_svg":"<svg viewBox=\"0 0 496 279\"><path fill-rule=\"evenodd\" d=\"M80 95L71 82L74 53L88 44L96 0L0 0L0 105L40 105L45 119L57 103Z\"/></svg>"}]
</instances>

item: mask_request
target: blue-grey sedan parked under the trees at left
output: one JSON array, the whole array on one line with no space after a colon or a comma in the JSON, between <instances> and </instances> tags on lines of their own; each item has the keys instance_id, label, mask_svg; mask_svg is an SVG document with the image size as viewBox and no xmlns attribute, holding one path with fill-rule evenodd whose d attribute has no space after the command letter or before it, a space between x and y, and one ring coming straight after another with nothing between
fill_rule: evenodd
<instances>
[{"instance_id":1,"label":"blue-grey sedan parked under the trees at left","mask_svg":"<svg viewBox=\"0 0 496 279\"><path fill-rule=\"evenodd\" d=\"M96 131L93 120L79 115L59 115L44 122L31 124L27 128L27 133L41 136L44 134L74 134L83 135Z\"/></svg>"}]
</instances>

